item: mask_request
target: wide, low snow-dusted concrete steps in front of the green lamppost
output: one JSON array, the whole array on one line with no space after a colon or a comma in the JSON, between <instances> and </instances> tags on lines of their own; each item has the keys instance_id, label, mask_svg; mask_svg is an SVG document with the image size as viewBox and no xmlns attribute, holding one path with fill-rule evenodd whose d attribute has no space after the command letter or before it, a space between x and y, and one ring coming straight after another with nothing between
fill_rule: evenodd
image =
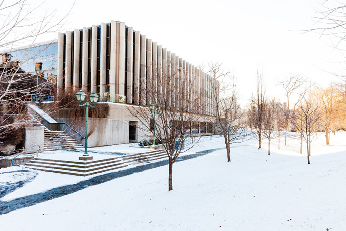
<instances>
[{"instance_id":1,"label":"wide, low snow-dusted concrete steps in front of the green lamppost","mask_svg":"<svg viewBox=\"0 0 346 231\"><path fill-rule=\"evenodd\" d=\"M167 158L166 152L155 150L152 152L90 161L66 161L35 158L24 167L45 172L55 172L75 176L89 176L110 170L121 169L129 165L148 163L163 158Z\"/></svg>"}]
</instances>

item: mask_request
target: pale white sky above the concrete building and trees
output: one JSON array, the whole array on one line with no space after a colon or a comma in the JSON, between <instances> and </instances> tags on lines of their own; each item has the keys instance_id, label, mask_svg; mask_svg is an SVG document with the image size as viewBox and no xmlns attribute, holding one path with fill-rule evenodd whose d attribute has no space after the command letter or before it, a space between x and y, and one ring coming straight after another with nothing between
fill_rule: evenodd
<instances>
[{"instance_id":1,"label":"pale white sky above the concrete building and trees","mask_svg":"<svg viewBox=\"0 0 346 231\"><path fill-rule=\"evenodd\" d=\"M57 9L60 16L71 5L48 0L42 8ZM326 86L338 80L327 72L343 70L343 58L330 47L330 38L296 32L316 27L311 17L318 6L316 0L77 0L60 32L111 20L125 22L195 66L222 62L238 78L243 105L255 92L257 69L263 70L267 95L283 102L277 79L297 74ZM50 36L42 40L57 38Z\"/></svg>"}]
</instances>

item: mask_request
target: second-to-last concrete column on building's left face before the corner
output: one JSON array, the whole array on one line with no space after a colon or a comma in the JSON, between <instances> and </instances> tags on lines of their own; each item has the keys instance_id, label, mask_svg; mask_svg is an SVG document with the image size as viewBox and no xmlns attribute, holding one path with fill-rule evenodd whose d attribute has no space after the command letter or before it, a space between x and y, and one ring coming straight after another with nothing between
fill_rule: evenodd
<instances>
[{"instance_id":1,"label":"second-to-last concrete column on building's left face before the corner","mask_svg":"<svg viewBox=\"0 0 346 231\"><path fill-rule=\"evenodd\" d=\"M107 24L101 24L100 38L100 93L106 92Z\"/></svg>"}]
</instances>

